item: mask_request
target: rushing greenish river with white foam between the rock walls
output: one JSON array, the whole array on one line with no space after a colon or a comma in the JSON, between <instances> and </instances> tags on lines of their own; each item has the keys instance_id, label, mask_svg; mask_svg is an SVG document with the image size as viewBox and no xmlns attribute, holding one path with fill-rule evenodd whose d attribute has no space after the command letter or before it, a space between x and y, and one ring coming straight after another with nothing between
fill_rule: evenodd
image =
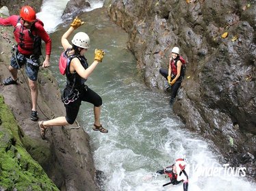
<instances>
[{"instance_id":1,"label":"rushing greenish river with white foam between the rock walls","mask_svg":"<svg viewBox=\"0 0 256 191\"><path fill-rule=\"evenodd\" d=\"M57 63L62 52L60 37L67 28L59 24L62 24L60 16L66 2L46 0L38 14L53 39L51 71L61 89L65 78L58 72ZM168 179L164 175L153 175L173 164L176 158L185 156L190 164L189 190L254 190L255 184L242 177L246 177L242 166L229 168L218 163L218 156L209 149L209 144L183 128L168 105L168 94L144 85L142 71L136 68L136 59L126 46L127 33L111 23L103 9L94 9L100 8L103 1L90 3L91 11L80 16L86 24L77 31L85 31L90 36L91 48L86 53L89 63L92 63L94 48L102 48L106 53L103 63L86 84L103 98L101 123L109 133L92 130L93 111L88 103L81 105L77 119L90 135L97 170L105 174L101 189L183 190L181 184L162 187ZM51 22L47 14L54 15Z\"/></svg>"}]
</instances>

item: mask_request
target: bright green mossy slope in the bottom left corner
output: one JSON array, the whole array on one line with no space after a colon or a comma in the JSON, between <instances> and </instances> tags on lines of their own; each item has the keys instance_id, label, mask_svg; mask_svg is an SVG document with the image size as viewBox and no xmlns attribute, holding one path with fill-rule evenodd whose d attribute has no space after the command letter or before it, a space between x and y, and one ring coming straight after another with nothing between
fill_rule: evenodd
<instances>
[{"instance_id":1,"label":"bright green mossy slope in the bottom left corner","mask_svg":"<svg viewBox=\"0 0 256 191\"><path fill-rule=\"evenodd\" d=\"M20 130L0 95L0 190L58 190L21 143Z\"/></svg>"}]
</instances>

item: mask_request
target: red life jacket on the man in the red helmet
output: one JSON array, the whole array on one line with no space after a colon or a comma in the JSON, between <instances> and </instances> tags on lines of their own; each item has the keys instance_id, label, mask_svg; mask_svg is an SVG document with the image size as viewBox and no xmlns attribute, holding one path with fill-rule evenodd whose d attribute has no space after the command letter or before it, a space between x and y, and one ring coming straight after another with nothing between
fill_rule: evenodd
<instances>
[{"instance_id":1,"label":"red life jacket on the man in the red helmet","mask_svg":"<svg viewBox=\"0 0 256 191\"><path fill-rule=\"evenodd\" d=\"M34 25L32 25L31 29L27 29L21 24L21 17L19 17L13 31L14 38L18 43L18 49L27 50L29 55L42 55L41 38L33 31Z\"/></svg>"}]
</instances>

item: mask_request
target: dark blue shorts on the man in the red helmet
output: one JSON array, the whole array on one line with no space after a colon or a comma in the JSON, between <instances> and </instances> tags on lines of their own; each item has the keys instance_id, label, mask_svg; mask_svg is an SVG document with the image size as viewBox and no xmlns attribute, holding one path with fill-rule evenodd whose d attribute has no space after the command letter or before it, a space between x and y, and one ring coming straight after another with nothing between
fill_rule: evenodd
<instances>
[{"instance_id":1,"label":"dark blue shorts on the man in the red helmet","mask_svg":"<svg viewBox=\"0 0 256 191\"><path fill-rule=\"evenodd\" d=\"M18 62L18 63L17 63ZM11 58L11 66L17 70L21 69L21 67L25 65L25 72L27 77L32 80L36 81L38 79L38 71L40 65L40 59L35 57L25 57L21 53L12 54Z\"/></svg>"}]
</instances>

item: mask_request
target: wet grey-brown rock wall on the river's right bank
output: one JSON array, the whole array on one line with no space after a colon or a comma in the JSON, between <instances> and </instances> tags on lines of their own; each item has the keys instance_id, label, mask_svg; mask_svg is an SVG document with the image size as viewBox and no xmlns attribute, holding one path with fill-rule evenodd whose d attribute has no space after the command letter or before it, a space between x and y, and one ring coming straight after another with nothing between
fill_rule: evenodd
<instances>
[{"instance_id":1,"label":"wet grey-brown rock wall on the river's right bank","mask_svg":"<svg viewBox=\"0 0 256 191\"><path fill-rule=\"evenodd\" d=\"M233 165L255 156L256 1L107 0L105 7L129 33L149 87L164 89L159 68L168 68L170 51L179 46L188 66L173 109L186 128L212 141ZM255 157L243 164L255 170Z\"/></svg>"}]
</instances>

